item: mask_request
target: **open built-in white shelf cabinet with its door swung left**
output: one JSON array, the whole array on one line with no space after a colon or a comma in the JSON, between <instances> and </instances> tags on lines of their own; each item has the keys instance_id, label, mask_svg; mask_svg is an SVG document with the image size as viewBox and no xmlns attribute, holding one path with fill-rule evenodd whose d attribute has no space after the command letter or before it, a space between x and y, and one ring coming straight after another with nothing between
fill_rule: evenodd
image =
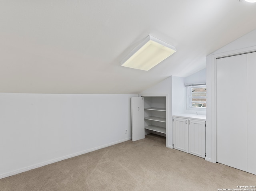
<instances>
[{"instance_id":1,"label":"open built-in white shelf cabinet with its door swung left","mask_svg":"<svg viewBox=\"0 0 256 191\"><path fill-rule=\"evenodd\" d=\"M145 138L145 130L166 136L166 96L132 98L132 140Z\"/></svg>"}]
</instances>

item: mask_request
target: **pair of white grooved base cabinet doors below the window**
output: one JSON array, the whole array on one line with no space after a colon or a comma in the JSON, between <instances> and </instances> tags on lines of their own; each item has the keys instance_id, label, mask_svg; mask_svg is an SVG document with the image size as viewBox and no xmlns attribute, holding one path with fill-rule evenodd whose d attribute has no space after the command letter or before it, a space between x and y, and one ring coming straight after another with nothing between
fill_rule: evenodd
<instances>
[{"instance_id":1,"label":"pair of white grooved base cabinet doors below the window","mask_svg":"<svg viewBox=\"0 0 256 191\"><path fill-rule=\"evenodd\" d=\"M205 158L205 120L173 118L174 149Z\"/></svg>"}]
</instances>

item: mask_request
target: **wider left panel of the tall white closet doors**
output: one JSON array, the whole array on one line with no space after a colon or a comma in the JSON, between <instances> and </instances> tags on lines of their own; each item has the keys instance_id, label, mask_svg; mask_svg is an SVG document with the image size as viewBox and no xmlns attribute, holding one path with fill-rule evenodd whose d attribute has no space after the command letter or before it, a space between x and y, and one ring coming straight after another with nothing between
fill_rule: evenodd
<instances>
[{"instance_id":1,"label":"wider left panel of the tall white closet doors","mask_svg":"<svg viewBox=\"0 0 256 191\"><path fill-rule=\"evenodd\" d=\"M246 54L216 60L216 161L247 171Z\"/></svg>"}]
</instances>

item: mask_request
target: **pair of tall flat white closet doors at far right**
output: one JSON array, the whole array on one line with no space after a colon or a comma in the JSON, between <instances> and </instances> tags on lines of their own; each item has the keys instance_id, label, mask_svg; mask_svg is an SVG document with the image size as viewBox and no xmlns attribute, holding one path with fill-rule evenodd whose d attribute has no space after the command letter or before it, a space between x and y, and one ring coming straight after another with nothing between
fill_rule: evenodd
<instances>
[{"instance_id":1,"label":"pair of tall flat white closet doors at far right","mask_svg":"<svg viewBox=\"0 0 256 191\"><path fill-rule=\"evenodd\" d=\"M256 174L256 53L216 60L216 161Z\"/></svg>"}]
</instances>

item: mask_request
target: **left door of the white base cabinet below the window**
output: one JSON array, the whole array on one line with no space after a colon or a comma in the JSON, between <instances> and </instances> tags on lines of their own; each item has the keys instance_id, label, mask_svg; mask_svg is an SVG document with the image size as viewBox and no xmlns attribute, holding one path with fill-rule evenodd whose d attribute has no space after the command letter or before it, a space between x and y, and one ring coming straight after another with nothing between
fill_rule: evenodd
<instances>
[{"instance_id":1,"label":"left door of the white base cabinet below the window","mask_svg":"<svg viewBox=\"0 0 256 191\"><path fill-rule=\"evenodd\" d=\"M174 149L188 152L188 120L174 118Z\"/></svg>"}]
</instances>

